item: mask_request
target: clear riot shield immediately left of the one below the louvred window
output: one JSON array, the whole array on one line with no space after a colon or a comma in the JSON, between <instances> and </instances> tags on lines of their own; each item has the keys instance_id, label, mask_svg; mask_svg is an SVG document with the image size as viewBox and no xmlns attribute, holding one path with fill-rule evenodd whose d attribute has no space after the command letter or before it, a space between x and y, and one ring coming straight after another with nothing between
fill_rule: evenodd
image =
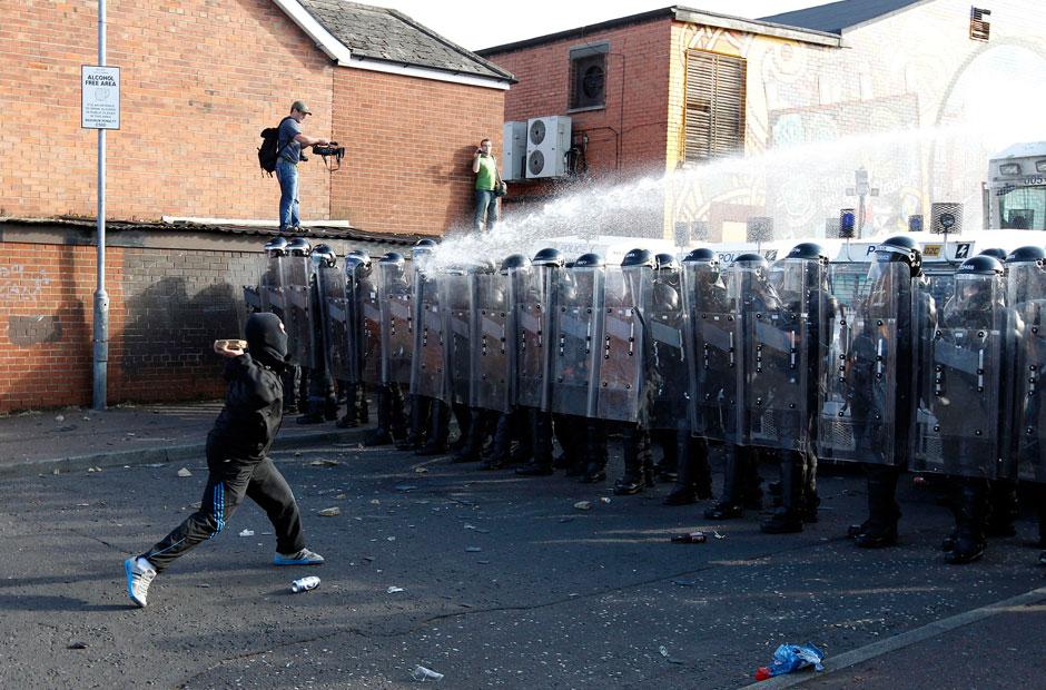
<instances>
[{"instance_id":1,"label":"clear riot shield immediately left of the one below the louvred window","mask_svg":"<svg viewBox=\"0 0 1046 690\"><path fill-rule=\"evenodd\" d=\"M690 372L684 342L688 335L680 275L660 272L654 277L645 316L650 336L648 375L651 384L651 428L690 426Z\"/></svg>"}]
</instances>

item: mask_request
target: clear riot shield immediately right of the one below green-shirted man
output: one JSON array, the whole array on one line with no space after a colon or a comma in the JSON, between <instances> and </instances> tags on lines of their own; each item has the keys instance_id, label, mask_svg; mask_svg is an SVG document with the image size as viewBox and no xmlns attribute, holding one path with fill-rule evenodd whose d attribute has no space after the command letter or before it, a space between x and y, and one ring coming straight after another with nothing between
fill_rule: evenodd
<instances>
[{"instance_id":1,"label":"clear riot shield immediately right of the one below green-shirted man","mask_svg":"<svg viewBox=\"0 0 1046 690\"><path fill-rule=\"evenodd\" d=\"M516 316L514 395L516 405L546 411L553 352L553 278L559 268L526 266L509 275Z\"/></svg>"}]
</instances>

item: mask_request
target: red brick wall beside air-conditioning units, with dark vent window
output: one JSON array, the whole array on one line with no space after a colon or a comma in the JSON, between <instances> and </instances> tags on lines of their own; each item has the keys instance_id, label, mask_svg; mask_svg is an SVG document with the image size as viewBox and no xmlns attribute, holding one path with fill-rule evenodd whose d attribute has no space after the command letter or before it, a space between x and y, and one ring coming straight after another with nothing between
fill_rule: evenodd
<instances>
[{"instance_id":1,"label":"red brick wall beside air-conditioning units, with dark vent window","mask_svg":"<svg viewBox=\"0 0 1046 690\"><path fill-rule=\"evenodd\" d=\"M568 38L486 56L520 80L505 96L504 119L570 115L575 145L588 135L585 158L592 179L613 181L638 174L663 174L671 27L671 20L664 18L594 32L584 39ZM610 43L605 107L568 112L570 50L603 41ZM547 195L569 189L574 181L581 180L520 183L513 195Z\"/></svg>"}]
</instances>

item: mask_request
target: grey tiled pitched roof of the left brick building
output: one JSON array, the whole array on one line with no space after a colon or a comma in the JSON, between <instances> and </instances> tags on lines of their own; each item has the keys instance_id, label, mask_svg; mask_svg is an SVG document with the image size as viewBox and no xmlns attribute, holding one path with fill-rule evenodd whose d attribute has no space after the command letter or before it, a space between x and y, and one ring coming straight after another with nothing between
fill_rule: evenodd
<instances>
[{"instance_id":1,"label":"grey tiled pitched roof of the left brick building","mask_svg":"<svg viewBox=\"0 0 1046 690\"><path fill-rule=\"evenodd\" d=\"M514 81L511 72L399 11L345 0L298 1L353 57Z\"/></svg>"}]
</instances>

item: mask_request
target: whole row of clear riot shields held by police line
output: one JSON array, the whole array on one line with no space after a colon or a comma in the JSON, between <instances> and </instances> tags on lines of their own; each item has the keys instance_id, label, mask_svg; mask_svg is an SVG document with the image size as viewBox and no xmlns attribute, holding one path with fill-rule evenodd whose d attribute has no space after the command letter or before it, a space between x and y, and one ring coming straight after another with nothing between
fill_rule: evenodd
<instances>
[{"instance_id":1,"label":"whole row of clear riot shields held by police line","mask_svg":"<svg viewBox=\"0 0 1046 690\"><path fill-rule=\"evenodd\" d=\"M274 249L245 298L284 321L293 363L336 381L1046 482L1042 258L941 276L822 257L677 266L339 267Z\"/></svg>"}]
</instances>

